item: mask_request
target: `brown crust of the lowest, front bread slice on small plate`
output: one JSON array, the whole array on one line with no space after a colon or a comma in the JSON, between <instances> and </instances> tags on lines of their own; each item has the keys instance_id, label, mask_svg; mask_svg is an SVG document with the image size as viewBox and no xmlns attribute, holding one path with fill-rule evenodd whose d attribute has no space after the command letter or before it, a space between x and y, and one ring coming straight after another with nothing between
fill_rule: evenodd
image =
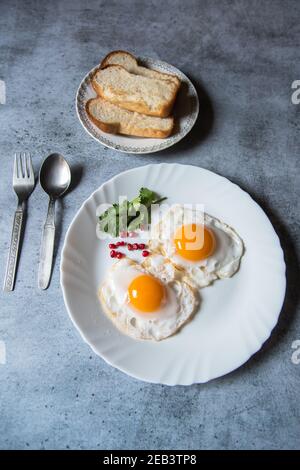
<instances>
[{"instance_id":1,"label":"brown crust of the lowest, front bread slice on small plate","mask_svg":"<svg viewBox=\"0 0 300 470\"><path fill-rule=\"evenodd\" d=\"M96 98L97 99L97 98ZM103 98L104 99L104 98ZM138 127L133 127L133 126L127 126L127 131L124 132L122 131L120 124L119 123L107 123L104 121L101 121L100 119L95 118L95 116L91 113L90 111L90 105L95 100L95 98L91 98L86 102L85 105L85 110L90 118L90 120L97 126L99 129L101 129L103 132L106 132L108 134L123 134L123 135L132 135L132 136L137 136L137 137L151 137L154 139L164 139L166 137L169 137L169 135L172 133L173 128L174 128L174 119L172 119L172 127L170 130L163 131L159 129L140 129ZM105 100L104 100L105 101Z\"/></svg>"}]
</instances>

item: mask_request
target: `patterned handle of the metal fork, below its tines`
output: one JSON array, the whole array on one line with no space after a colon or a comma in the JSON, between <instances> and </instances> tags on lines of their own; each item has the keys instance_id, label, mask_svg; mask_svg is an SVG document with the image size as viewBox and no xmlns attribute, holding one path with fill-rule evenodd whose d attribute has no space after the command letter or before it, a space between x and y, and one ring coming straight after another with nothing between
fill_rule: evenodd
<instances>
[{"instance_id":1,"label":"patterned handle of the metal fork, below its tines","mask_svg":"<svg viewBox=\"0 0 300 470\"><path fill-rule=\"evenodd\" d=\"M3 287L3 290L7 292L14 290L20 238L21 238L21 233L22 233L23 215L24 215L23 209L16 210L13 228L12 228L12 234L11 234L4 287Z\"/></svg>"}]
</instances>

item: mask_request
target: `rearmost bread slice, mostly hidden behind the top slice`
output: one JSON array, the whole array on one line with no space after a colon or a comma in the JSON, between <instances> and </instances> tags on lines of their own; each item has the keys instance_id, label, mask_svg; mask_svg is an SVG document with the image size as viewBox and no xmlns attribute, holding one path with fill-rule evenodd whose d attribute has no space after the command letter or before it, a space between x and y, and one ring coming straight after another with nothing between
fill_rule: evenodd
<instances>
[{"instance_id":1,"label":"rearmost bread slice, mostly hidden behind the top slice","mask_svg":"<svg viewBox=\"0 0 300 470\"><path fill-rule=\"evenodd\" d=\"M180 87L180 80L176 75L168 73L158 72L157 70L148 69L138 64L134 55L126 51L113 51L107 54L102 60L100 67L105 68L108 65L121 65L127 72L134 73L135 75L141 75L148 78L156 78L157 80L169 80L172 81L177 88Z\"/></svg>"}]
</instances>

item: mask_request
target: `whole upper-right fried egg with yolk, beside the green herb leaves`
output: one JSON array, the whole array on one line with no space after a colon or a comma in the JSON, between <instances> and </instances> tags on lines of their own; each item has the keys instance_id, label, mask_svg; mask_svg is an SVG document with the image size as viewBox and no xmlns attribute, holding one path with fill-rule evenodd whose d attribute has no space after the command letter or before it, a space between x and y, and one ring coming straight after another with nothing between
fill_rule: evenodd
<instances>
[{"instance_id":1,"label":"whole upper-right fried egg with yolk, beside the green herb leaves","mask_svg":"<svg viewBox=\"0 0 300 470\"><path fill-rule=\"evenodd\" d=\"M229 225L177 204L154 227L150 248L183 270L184 281L193 287L233 276L244 251L242 239Z\"/></svg>"}]
</instances>

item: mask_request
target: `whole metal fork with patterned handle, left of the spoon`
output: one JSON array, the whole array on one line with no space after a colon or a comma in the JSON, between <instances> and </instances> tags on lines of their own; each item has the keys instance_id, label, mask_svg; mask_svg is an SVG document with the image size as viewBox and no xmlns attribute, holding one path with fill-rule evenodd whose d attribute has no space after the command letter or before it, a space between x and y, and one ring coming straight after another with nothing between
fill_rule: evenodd
<instances>
[{"instance_id":1,"label":"whole metal fork with patterned handle, left of the spoon","mask_svg":"<svg viewBox=\"0 0 300 470\"><path fill-rule=\"evenodd\" d=\"M9 256L3 290L14 289L16 267L18 262L20 238L23 228L25 203L34 189L34 173L30 153L15 154L13 188L18 196L18 207L15 212Z\"/></svg>"}]
</instances>

